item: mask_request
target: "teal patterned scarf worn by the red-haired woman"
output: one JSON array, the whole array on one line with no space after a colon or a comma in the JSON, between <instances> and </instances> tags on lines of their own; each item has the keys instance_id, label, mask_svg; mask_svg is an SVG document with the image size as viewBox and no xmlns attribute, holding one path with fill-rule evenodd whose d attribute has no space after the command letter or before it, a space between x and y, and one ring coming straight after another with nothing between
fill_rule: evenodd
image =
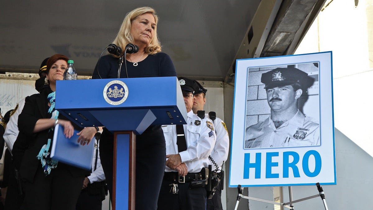
<instances>
[{"instance_id":1,"label":"teal patterned scarf worn by the red-haired woman","mask_svg":"<svg viewBox=\"0 0 373 210\"><path fill-rule=\"evenodd\" d=\"M48 110L48 113L52 113L51 119L58 119L59 112L54 109L55 100L56 100L56 92L50 93L47 97L50 108ZM53 132L54 127L51 127L49 129L49 133ZM47 176L50 174L50 170L57 167L58 161L52 160L50 158L50 145L52 140L49 138L47 144L44 144L43 147L41 147L41 150L37 156L38 160L41 162L41 166L43 166L44 174Z\"/></svg>"}]
</instances>

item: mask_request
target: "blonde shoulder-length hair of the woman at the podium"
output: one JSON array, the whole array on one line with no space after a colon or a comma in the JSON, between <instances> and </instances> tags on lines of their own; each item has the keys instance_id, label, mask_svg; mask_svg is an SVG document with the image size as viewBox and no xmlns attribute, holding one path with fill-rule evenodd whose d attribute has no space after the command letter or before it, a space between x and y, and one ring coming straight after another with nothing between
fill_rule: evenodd
<instances>
[{"instance_id":1,"label":"blonde shoulder-length hair of the woman at the podium","mask_svg":"<svg viewBox=\"0 0 373 210\"><path fill-rule=\"evenodd\" d=\"M127 13L113 43L121 47L122 49L125 49L127 44L134 43L134 37L132 37L131 35L131 23L138 16L144 13L151 13L154 16L156 24L158 23L158 16L156 15L156 11L153 8L151 7L136 8L132 10L131 12ZM158 40L157 27L156 27L154 29L153 39L151 40L150 44L147 47L145 47L145 53L153 55L153 54L159 53L160 51L162 51L162 49L161 49L161 46Z\"/></svg>"}]
</instances>

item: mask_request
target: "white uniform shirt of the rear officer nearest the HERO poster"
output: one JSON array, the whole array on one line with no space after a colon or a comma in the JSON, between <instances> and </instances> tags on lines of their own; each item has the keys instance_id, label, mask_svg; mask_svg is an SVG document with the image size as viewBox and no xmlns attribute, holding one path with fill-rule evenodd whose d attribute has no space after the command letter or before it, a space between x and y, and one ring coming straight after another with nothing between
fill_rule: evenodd
<instances>
[{"instance_id":1,"label":"white uniform shirt of the rear officer nearest the HERO poster","mask_svg":"<svg viewBox=\"0 0 373 210\"><path fill-rule=\"evenodd\" d=\"M209 114L205 114L205 118L209 118ZM223 120L218 117L216 117L213 123L216 132L216 143L213 150L211 151L211 157L214 160L214 162L219 166L219 169L222 169L221 166L223 165L223 162L225 162L228 159L228 130ZM209 164L212 166L212 170L216 169L216 166L211 162L211 160Z\"/></svg>"}]
</instances>

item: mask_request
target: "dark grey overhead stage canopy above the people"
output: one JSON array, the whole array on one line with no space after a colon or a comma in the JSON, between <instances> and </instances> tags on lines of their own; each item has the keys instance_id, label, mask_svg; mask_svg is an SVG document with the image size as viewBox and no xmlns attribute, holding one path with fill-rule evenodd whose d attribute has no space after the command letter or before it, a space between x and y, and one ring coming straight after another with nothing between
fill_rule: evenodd
<instances>
[{"instance_id":1,"label":"dark grey overhead stage canopy above the people","mask_svg":"<svg viewBox=\"0 0 373 210\"><path fill-rule=\"evenodd\" d=\"M324 2L4 1L0 73L37 73L44 58L61 53L75 60L79 75L91 75L126 13L150 6L160 17L163 52L171 56L178 75L223 81L233 73L235 59L294 53Z\"/></svg>"}]
</instances>

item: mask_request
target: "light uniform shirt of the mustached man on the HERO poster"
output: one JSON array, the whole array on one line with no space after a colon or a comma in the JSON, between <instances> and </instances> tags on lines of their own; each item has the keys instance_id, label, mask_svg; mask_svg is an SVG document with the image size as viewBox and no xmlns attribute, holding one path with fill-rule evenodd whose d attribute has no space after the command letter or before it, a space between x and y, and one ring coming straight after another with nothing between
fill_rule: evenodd
<instances>
[{"instance_id":1,"label":"light uniform shirt of the mustached man on the HERO poster","mask_svg":"<svg viewBox=\"0 0 373 210\"><path fill-rule=\"evenodd\" d=\"M246 129L245 148L301 147L320 145L320 126L299 110L279 128L269 116Z\"/></svg>"}]
</instances>

